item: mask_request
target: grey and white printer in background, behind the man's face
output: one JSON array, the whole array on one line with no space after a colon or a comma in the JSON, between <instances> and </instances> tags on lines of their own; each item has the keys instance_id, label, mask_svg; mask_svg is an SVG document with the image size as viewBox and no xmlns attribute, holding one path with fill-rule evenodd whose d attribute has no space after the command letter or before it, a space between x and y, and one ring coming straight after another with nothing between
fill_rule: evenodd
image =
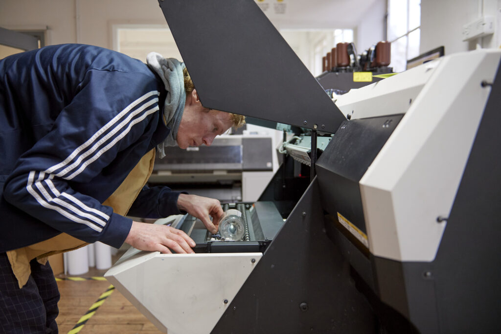
<instances>
[{"instance_id":1,"label":"grey and white printer in background, behind the man's face","mask_svg":"<svg viewBox=\"0 0 501 334\"><path fill-rule=\"evenodd\" d=\"M221 202L256 201L277 170L272 135L223 135L210 146L168 147L156 158L151 185L216 198Z\"/></svg>"}]
</instances>

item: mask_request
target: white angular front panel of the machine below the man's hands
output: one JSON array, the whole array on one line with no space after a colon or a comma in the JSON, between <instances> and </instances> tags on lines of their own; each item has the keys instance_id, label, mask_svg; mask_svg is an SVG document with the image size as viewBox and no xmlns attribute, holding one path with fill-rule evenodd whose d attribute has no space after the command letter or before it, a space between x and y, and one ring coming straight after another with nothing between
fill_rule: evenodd
<instances>
[{"instance_id":1,"label":"white angular front panel of the machine below the man's hands","mask_svg":"<svg viewBox=\"0 0 501 334\"><path fill-rule=\"evenodd\" d=\"M105 277L160 330L203 334L210 333L262 256L130 249Z\"/></svg>"}]
</instances>

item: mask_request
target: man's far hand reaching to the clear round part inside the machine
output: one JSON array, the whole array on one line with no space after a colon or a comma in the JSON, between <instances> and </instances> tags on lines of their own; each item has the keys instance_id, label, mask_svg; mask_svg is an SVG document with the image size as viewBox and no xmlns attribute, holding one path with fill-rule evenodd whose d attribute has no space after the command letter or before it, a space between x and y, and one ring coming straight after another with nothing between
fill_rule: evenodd
<instances>
[{"instance_id":1,"label":"man's far hand reaching to the clear round part inside the machine","mask_svg":"<svg viewBox=\"0 0 501 334\"><path fill-rule=\"evenodd\" d=\"M177 207L179 210L184 210L200 219L211 233L217 233L217 226L224 215L221 203L218 200L196 195L180 194L177 199ZM209 216L212 217L212 222Z\"/></svg>"}]
</instances>

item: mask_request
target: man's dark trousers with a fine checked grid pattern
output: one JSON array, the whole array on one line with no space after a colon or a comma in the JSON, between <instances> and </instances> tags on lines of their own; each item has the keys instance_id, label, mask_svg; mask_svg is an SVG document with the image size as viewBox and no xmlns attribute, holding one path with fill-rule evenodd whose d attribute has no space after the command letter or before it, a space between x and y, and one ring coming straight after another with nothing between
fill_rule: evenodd
<instances>
[{"instance_id":1,"label":"man's dark trousers with a fine checked grid pattern","mask_svg":"<svg viewBox=\"0 0 501 334\"><path fill-rule=\"evenodd\" d=\"M0 333L57 333L59 290L49 262L30 262L28 283L19 288L7 258L0 253Z\"/></svg>"}]
</instances>

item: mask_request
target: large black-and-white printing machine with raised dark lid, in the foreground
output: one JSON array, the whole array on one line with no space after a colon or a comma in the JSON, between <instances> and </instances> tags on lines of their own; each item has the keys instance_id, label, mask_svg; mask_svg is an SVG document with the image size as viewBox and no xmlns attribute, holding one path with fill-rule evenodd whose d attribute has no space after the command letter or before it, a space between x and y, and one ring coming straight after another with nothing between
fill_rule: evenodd
<instances>
[{"instance_id":1,"label":"large black-and-white printing machine with raised dark lid, in the foreground","mask_svg":"<svg viewBox=\"0 0 501 334\"><path fill-rule=\"evenodd\" d=\"M254 1L159 3L205 106L304 131L258 202L226 204L246 218L244 240L160 220L197 253L130 249L106 274L119 291L170 334L496 331L499 50L333 103Z\"/></svg>"}]
</instances>

